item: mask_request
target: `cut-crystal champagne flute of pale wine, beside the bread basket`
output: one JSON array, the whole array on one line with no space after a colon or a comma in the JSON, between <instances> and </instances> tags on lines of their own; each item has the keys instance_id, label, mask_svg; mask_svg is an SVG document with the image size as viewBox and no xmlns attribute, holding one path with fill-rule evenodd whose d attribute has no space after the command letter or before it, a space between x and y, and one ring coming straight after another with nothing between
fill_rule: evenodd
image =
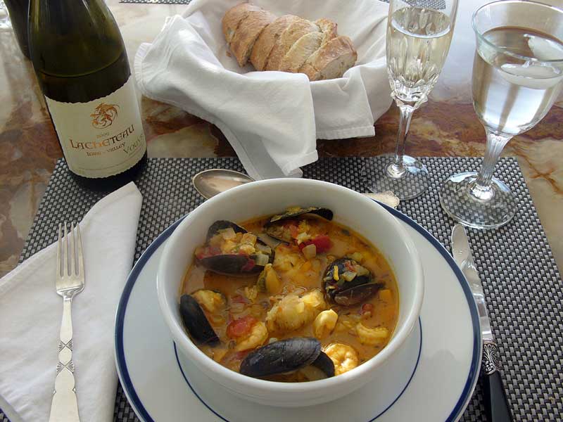
<instances>
[{"instance_id":1,"label":"cut-crystal champagne flute of pale wine, beside the bread basket","mask_svg":"<svg viewBox=\"0 0 563 422\"><path fill-rule=\"evenodd\" d=\"M373 192L391 190L401 200L416 198L428 188L428 170L405 155L412 113L426 102L448 56L457 0L391 0L387 20L387 72L391 97L400 111L395 155L369 160L362 178Z\"/></svg>"}]
</instances>

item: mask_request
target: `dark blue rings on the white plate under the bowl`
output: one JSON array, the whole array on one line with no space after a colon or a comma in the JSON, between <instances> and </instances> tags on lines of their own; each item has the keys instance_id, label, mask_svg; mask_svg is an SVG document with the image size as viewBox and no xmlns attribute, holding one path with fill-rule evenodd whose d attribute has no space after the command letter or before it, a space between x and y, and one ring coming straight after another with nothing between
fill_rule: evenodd
<instances>
[{"instance_id":1,"label":"dark blue rings on the white plate under the bowl","mask_svg":"<svg viewBox=\"0 0 563 422\"><path fill-rule=\"evenodd\" d=\"M382 204L382 203L379 203L379 205L383 206L386 210L388 210L388 212L391 212L391 215L393 215L394 217L397 217L401 221L407 223L413 229L418 231L419 234L422 234L422 236L424 236L424 238L426 238L427 241L429 241L432 245L434 245L434 248L436 248L436 250L438 250L438 252L441 253L444 260L446 262L448 262L448 264L450 264L450 267L453 270L455 276L457 277L458 281L460 281L463 292L465 294L465 298L467 299L467 304L469 305L469 313L471 314L472 324L473 324L472 363L471 363L471 366L469 367L469 375L467 376L467 381L465 382L462 394L460 395L460 398L457 399L455 407L450 412L450 416L448 416L448 418L446 419L446 422L457 421L457 419L461 416L462 411L464 411L464 409L467 407L467 404L469 403L469 399L471 399L471 397L472 397L472 394L473 394L473 391L474 391L474 388L475 388L475 385L476 385L477 377L479 376L479 367L480 367L480 364L481 364L481 353L480 353L480 350L481 350L481 326L480 326L480 323L479 323L479 315L477 314L477 307L476 307L475 302L473 300L472 292L469 289L469 284L465 280L465 277L463 276L462 271L460 270L459 267L457 267L457 264L455 264L453 258L449 254L449 252L447 250L445 250L443 245L440 242L438 242L438 240L436 238L434 238L434 236L432 236L429 233L429 231L427 231L426 229L424 229L424 227L417 224L410 217L407 217L406 215L404 215L402 212L395 210L391 207L388 207L387 205ZM123 347L123 328L124 328L123 323L124 323L124 319L125 319L125 312L127 310L127 303L129 302L129 296L131 295L131 292L133 290L135 282L139 278L139 274L141 274L141 271L143 270L144 266L146 265L148 260L151 258L153 253L156 252L156 250L159 248L159 246L162 245L163 242L167 238L170 237L172 232L176 229L178 224L180 222L182 222L184 217L178 219L177 222L173 223L170 227L165 229L165 231L163 231L153 241L153 243L151 243L151 245L149 245L148 248L146 248L143 255L141 255L141 257L139 258L139 260L137 261L137 263L134 265L133 269L131 270L131 273L127 277L127 282L125 283L125 288L123 288L123 293L122 293L120 301L119 301L118 312L115 315L115 361L116 361L117 366L118 366L118 373L120 374L122 387L123 387L123 390L125 391L128 399L129 399L129 402L131 403L133 409L137 412L137 415L139 416L139 418L141 418L144 422L154 422L154 420L148 414L148 411L146 411L143 403L141 402L141 399L139 399L139 395L137 395L137 392L134 389L133 383L131 381L131 377L129 376L129 371L127 370L127 364L125 362L125 350L124 350L124 347ZM419 319L419 324L420 324L420 319ZM422 326L421 326L421 345L422 345ZM176 353L176 345L174 345L174 350L175 350L175 353ZM420 358L420 350L419 350L419 357L417 358L417 364L415 366L415 371L416 371L417 366L418 366L419 358ZM176 354L176 359L177 359L177 354ZM178 366L179 366L180 371L182 371L182 368L179 365L179 362L178 362ZM412 373L412 376L414 376L414 373L415 372ZM186 382L188 383L189 387L194 392L196 397L198 397L198 399L205 405L205 407L210 409L210 411L213 411L213 409L211 409L208 406L208 404L206 404L205 402L203 402L203 400L201 400L199 395L191 387L191 385L189 384L189 381L187 380L183 371L182 371L182 376L184 376L184 379L186 380ZM409 378L407 385L410 383L412 376ZM405 390L406 390L406 386L403 389L403 391L400 393L400 395L402 395ZM399 397L400 397L400 395L399 395ZM389 408L391 408L391 406L397 401L397 399L399 397L397 397L393 401L393 403L391 403L391 405L389 405L385 409L385 411L387 411ZM381 414L384 414L384 412L381 412ZM213 413L215 415L219 416L220 418L222 418L222 416L217 414L215 411L213 411ZM379 416L381 416L381 414L378 414L374 418L370 419L370 421L373 421L375 418L378 418ZM226 421L226 419L224 419L224 418L222 418L222 419L224 421Z\"/></svg>"}]
</instances>

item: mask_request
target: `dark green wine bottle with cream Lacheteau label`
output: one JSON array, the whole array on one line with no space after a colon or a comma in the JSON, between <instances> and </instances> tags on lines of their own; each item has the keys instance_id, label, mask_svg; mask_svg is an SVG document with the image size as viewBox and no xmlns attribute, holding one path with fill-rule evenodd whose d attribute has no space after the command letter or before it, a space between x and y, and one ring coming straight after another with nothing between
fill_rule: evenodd
<instances>
[{"instance_id":1,"label":"dark green wine bottle with cream Lacheteau label","mask_svg":"<svg viewBox=\"0 0 563 422\"><path fill-rule=\"evenodd\" d=\"M118 25L103 0L31 0L33 68L72 176L106 190L132 180L146 141Z\"/></svg>"}]
</instances>

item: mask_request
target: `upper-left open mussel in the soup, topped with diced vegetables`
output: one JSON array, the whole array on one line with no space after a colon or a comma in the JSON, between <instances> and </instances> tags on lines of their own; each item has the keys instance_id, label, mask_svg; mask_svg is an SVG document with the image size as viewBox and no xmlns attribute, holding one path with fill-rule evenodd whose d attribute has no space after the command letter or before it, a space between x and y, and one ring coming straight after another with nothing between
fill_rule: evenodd
<instances>
[{"instance_id":1,"label":"upper-left open mussel in the soup, topped with diced vegetables","mask_svg":"<svg viewBox=\"0 0 563 422\"><path fill-rule=\"evenodd\" d=\"M236 243L239 233L243 236ZM228 250L224 250L227 244ZM266 264L274 262L274 250L238 224L219 220L209 227L205 245L196 250L196 259L210 271L246 276L259 274Z\"/></svg>"}]
</instances>

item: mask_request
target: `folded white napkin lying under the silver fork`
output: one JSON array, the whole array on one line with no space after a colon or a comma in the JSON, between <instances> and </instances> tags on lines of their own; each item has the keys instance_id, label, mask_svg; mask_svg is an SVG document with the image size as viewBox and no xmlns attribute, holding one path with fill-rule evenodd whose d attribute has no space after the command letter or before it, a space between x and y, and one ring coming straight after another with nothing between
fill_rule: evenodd
<instances>
[{"instance_id":1,"label":"folded white napkin lying under the silver fork","mask_svg":"<svg viewBox=\"0 0 563 422\"><path fill-rule=\"evenodd\" d=\"M72 300L72 358L82 422L113 420L115 309L133 263L141 201L129 183L80 222L86 283ZM49 419L63 315L55 269L53 243L0 279L0 409L11 422Z\"/></svg>"}]
</instances>

